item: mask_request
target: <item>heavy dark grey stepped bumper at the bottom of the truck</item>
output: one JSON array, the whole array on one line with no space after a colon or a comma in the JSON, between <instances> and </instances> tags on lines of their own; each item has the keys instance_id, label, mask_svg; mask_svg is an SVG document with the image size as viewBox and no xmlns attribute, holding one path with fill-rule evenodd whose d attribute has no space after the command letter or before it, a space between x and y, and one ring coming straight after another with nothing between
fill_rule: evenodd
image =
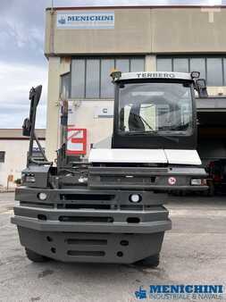
<instances>
[{"instance_id":1,"label":"heavy dark grey stepped bumper at the bottom of the truck","mask_svg":"<svg viewBox=\"0 0 226 302\"><path fill-rule=\"evenodd\" d=\"M134 263L159 254L164 231L172 227L161 194L154 198L150 192L140 192L142 202L130 208L126 198L130 191L107 191L115 197L105 202L82 197L83 208L78 209L73 207L80 201L59 198L69 190L46 190L52 197L45 202L38 201L38 191L45 190L17 191L21 203L14 207L12 222L18 226L22 246L61 261ZM70 190L71 193L77 197L96 194L92 190ZM86 204L89 208L85 208ZM95 209L96 204L109 205L111 209Z\"/></svg>"}]
</instances>

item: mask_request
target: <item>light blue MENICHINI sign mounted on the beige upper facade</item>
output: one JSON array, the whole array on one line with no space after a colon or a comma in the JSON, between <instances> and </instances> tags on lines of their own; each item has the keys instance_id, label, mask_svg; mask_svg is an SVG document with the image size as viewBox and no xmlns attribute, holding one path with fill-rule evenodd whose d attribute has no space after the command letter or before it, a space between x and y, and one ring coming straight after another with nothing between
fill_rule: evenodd
<instances>
[{"instance_id":1,"label":"light blue MENICHINI sign mounted on the beige upper facade","mask_svg":"<svg viewBox=\"0 0 226 302\"><path fill-rule=\"evenodd\" d=\"M113 29L114 13L57 13L58 29Z\"/></svg>"}]
</instances>

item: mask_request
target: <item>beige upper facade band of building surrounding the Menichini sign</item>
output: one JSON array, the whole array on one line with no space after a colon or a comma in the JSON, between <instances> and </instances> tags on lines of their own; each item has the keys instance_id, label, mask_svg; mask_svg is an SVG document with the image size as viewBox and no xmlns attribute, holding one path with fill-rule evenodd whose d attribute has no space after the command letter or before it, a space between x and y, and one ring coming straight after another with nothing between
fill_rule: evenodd
<instances>
[{"instance_id":1,"label":"beige upper facade band of building surrounding the Menichini sign","mask_svg":"<svg viewBox=\"0 0 226 302\"><path fill-rule=\"evenodd\" d=\"M90 10L58 11L68 12ZM91 12L114 12L114 29L58 29L57 11L46 11L46 55L213 53L226 49L226 8L94 8Z\"/></svg>"}]
</instances>

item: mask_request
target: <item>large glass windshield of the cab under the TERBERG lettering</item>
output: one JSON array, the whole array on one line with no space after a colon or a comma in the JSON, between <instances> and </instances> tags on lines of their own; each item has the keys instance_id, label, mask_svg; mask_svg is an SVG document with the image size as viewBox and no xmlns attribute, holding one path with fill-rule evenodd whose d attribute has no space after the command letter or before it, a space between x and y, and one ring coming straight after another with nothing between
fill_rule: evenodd
<instances>
[{"instance_id":1,"label":"large glass windshield of the cab under the TERBERG lettering","mask_svg":"<svg viewBox=\"0 0 226 302\"><path fill-rule=\"evenodd\" d=\"M191 132L189 83L121 83L119 87L119 129L122 132Z\"/></svg>"}]
</instances>

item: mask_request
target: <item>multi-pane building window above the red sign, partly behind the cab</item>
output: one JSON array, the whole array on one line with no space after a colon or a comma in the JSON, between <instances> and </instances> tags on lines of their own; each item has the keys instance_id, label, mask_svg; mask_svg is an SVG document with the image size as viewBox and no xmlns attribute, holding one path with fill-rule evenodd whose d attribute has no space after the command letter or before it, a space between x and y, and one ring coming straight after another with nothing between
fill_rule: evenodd
<instances>
[{"instance_id":1,"label":"multi-pane building window above the red sign, partly behind the cab","mask_svg":"<svg viewBox=\"0 0 226 302\"><path fill-rule=\"evenodd\" d=\"M144 57L85 57L71 61L71 98L113 98L110 73L144 71Z\"/></svg>"}]
</instances>

